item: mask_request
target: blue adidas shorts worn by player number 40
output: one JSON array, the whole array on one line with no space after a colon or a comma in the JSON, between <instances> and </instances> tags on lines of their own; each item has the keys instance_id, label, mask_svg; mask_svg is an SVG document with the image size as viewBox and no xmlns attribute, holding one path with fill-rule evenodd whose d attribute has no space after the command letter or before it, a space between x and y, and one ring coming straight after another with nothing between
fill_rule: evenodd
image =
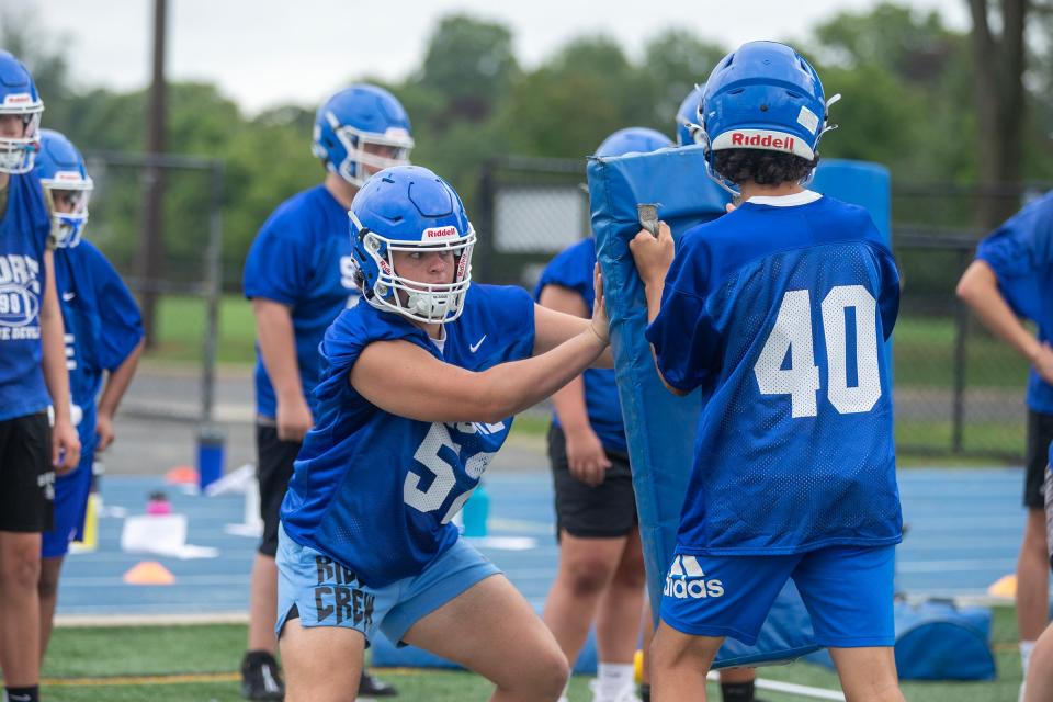
<instances>
[{"instance_id":1,"label":"blue adidas shorts worn by player number 40","mask_svg":"<svg viewBox=\"0 0 1053 702\"><path fill-rule=\"evenodd\" d=\"M661 621L698 636L757 642L789 578L801 592L816 643L892 646L895 546L828 546L791 555L692 556L678 546L661 597Z\"/></svg>"}]
</instances>

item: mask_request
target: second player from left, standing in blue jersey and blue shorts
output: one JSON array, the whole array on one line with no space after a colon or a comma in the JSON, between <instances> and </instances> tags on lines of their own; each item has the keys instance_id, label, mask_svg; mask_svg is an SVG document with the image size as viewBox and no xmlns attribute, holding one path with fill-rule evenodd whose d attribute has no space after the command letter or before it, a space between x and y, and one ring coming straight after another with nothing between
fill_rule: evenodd
<instances>
[{"instance_id":1,"label":"second player from left, standing in blue jersey and blue shorts","mask_svg":"<svg viewBox=\"0 0 1053 702\"><path fill-rule=\"evenodd\" d=\"M113 417L143 350L143 319L110 261L90 241L81 240L92 181L80 151L58 132L43 129L34 173L52 212L55 282L81 445L77 471L55 480L55 523L44 533L39 579L43 658L55 619L63 559L70 542L83 537L92 463L95 452L105 451L114 440Z\"/></svg>"}]
</instances>

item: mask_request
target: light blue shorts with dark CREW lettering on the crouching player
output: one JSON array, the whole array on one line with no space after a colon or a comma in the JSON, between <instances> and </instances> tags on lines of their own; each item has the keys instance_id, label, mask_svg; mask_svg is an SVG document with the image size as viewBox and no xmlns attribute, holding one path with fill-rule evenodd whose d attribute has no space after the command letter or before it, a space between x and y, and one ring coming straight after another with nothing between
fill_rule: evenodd
<instances>
[{"instance_id":1,"label":"light blue shorts with dark CREW lettering on the crouching player","mask_svg":"<svg viewBox=\"0 0 1053 702\"><path fill-rule=\"evenodd\" d=\"M420 619L476 582L500 573L478 551L457 540L419 574L372 588L359 582L350 568L302 546L278 530L278 623L282 627L293 607L301 626L343 626L362 632L366 642L384 632L398 644Z\"/></svg>"}]
</instances>

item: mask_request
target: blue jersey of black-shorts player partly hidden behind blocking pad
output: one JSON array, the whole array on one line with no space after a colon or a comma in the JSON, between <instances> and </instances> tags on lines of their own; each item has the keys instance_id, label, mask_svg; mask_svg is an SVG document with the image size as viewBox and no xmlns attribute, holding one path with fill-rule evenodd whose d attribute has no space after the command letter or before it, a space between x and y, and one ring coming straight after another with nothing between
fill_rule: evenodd
<instances>
[{"instance_id":1,"label":"blue jersey of black-shorts player partly hidden behind blocking pad","mask_svg":"<svg viewBox=\"0 0 1053 702\"><path fill-rule=\"evenodd\" d=\"M534 288L534 299L541 299L541 291L545 285L561 285L573 290L585 302L586 308L591 312L596 302L596 291L592 287L592 271L596 267L596 239L589 237L568 247L559 256L552 259L537 281ZM600 438L603 448L610 451L625 453L625 423L622 421L622 405L618 398L618 385L614 383L614 371L611 369L589 369L582 373L585 377L585 405L589 412L589 423L592 431ZM559 418L555 412L552 420L558 424Z\"/></svg>"}]
</instances>

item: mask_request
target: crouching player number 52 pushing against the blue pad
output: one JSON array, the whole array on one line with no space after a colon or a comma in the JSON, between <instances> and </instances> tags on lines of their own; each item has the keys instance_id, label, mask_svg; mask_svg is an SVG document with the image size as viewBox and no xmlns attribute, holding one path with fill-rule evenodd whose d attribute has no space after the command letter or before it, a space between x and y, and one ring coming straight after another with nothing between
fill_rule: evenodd
<instances>
[{"instance_id":1,"label":"crouching player number 52 pushing against the blue pad","mask_svg":"<svg viewBox=\"0 0 1053 702\"><path fill-rule=\"evenodd\" d=\"M610 365L602 302L589 320L471 284L475 231L427 169L377 173L350 217L363 302L326 331L317 421L282 503L286 700L353 700L383 631L482 673L494 700L554 701L566 656L451 520L517 412Z\"/></svg>"}]
</instances>

